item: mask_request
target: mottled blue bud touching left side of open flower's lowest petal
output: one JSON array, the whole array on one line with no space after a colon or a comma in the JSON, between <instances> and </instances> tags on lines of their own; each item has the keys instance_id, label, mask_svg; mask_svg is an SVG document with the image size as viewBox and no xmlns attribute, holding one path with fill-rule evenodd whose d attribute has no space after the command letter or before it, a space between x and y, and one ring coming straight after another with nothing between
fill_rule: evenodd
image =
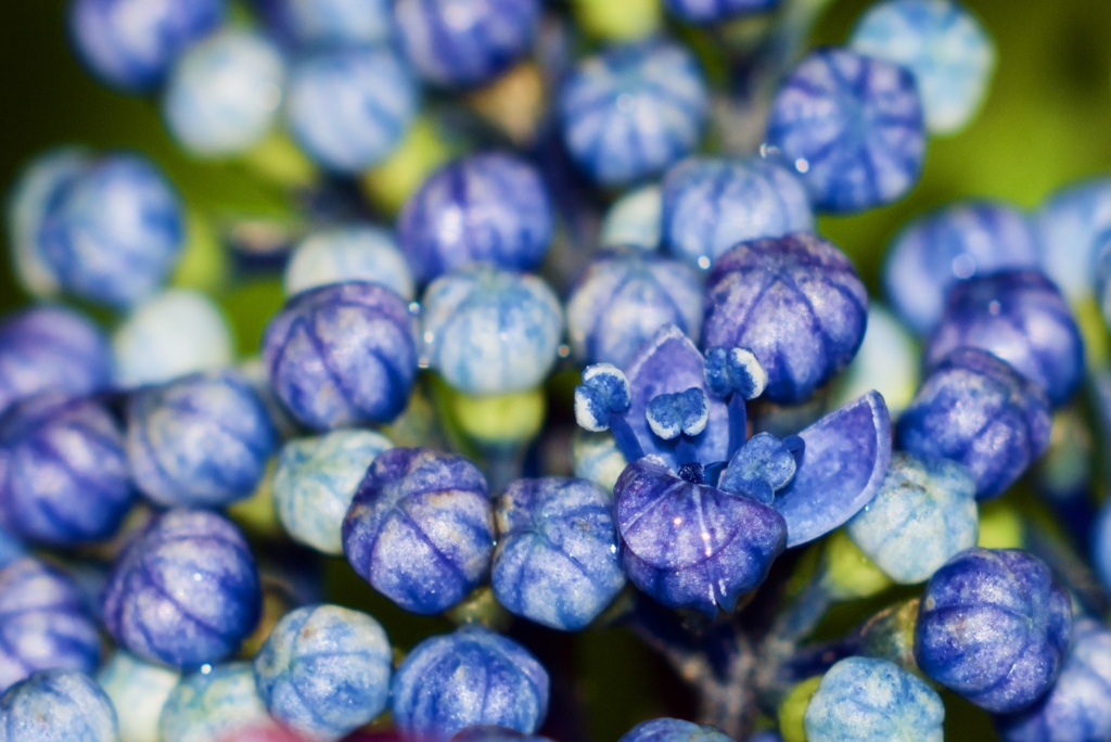
<instances>
[{"instance_id":1,"label":"mottled blue bud touching left side of open flower's lowest petal","mask_svg":"<svg viewBox=\"0 0 1111 742\"><path fill-rule=\"evenodd\" d=\"M511 612L578 631L624 586L610 498L597 484L518 480L498 499L497 519L491 581Z\"/></svg>"}]
</instances>

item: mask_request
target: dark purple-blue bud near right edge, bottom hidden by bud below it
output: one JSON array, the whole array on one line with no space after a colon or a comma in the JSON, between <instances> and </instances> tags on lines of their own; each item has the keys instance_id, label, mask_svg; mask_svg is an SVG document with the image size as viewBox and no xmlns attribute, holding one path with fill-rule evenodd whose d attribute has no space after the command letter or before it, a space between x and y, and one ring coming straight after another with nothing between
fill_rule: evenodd
<instances>
[{"instance_id":1,"label":"dark purple-blue bud near right edge, bottom hidden by bud below it","mask_svg":"<svg viewBox=\"0 0 1111 742\"><path fill-rule=\"evenodd\" d=\"M1080 328L1057 287L1038 271L1005 271L953 287L925 352L980 348L1040 387L1051 407L1069 401L1084 373Z\"/></svg>"}]
</instances>

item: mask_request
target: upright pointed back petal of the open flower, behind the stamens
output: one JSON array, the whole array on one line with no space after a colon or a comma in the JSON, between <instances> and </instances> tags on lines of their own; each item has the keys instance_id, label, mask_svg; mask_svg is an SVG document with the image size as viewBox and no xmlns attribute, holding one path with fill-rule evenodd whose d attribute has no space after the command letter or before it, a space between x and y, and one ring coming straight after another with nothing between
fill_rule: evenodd
<instances>
[{"instance_id":1,"label":"upright pointed back petal of the open flower, behind the stamens","mask_svg":"<svg viewBox=\"0 0 1111 742\"><path fill-rule=\"evenodd\" d=\"M632 389L629 425L644 453L660 457L672 469L679 467L674 447L652 434L647 419L648 404L660 394L693 388L705 390L704 365L694 343L679 328L669 324L641 348L627 370ZM705 463L724 461L729 455L729 411L725 403L709 399L707 415L705 430L691 441L695 459Z\"/></svg>"}]
</instances>

